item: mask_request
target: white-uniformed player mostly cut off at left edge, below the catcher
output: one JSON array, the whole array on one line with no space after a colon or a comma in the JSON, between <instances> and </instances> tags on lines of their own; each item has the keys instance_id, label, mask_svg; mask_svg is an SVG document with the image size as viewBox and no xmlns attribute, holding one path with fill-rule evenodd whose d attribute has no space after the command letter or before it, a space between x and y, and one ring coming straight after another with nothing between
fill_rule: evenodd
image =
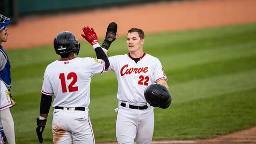
<instances>
[{"instance_id":1,"label":"white-uniformed player mostly cut off at left edge, below the catcher","mask_svg":"<svg viewBox=\"0 0 256 144\"><path fill-rule=\"evenodd\" d=\"M0 133L0 144L5 144L5 139L7 139L8 144L15 144L14 122L10 112L10 107L13 105L10 100L9 91L2 80L0 80L0 92L0 128L4 131L4 133Z\"/></svg>"}]
</instances>

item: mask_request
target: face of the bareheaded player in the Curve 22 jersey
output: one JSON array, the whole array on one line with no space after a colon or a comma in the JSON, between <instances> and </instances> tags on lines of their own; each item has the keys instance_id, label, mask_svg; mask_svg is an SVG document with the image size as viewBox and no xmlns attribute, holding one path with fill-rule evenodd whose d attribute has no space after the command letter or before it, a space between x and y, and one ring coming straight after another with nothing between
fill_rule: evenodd
<instances>
[{"instance_id":1,"label":"face of the bareheaded player in the Curve 22 jersey","mask_svg":"<svg viewBox=\"0 0 256 144\"><path fill-rule=\"evenodd\" d=\"M131 53L141 52L143 51L144 39L140 39L138 32L129 32L127 34L126 44Z\"/></svg>"}]
</instances>

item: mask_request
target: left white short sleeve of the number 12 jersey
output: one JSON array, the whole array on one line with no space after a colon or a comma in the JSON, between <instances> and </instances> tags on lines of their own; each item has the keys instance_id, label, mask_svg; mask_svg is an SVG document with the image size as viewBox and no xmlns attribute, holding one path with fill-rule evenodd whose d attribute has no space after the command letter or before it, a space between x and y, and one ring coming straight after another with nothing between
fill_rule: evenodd
<instances>
[{"instance_id":1,"label":"left white short sleeve of the number 12 jersey","mask_svg":"<svg viewBox=\"0 0 256 144\"><path fill-rule=\"evenodd\" d=\"M41 92L45 95L52 96L53 95L53 89L52 85L50 83L49 75L48 75L48 69L44 72L44 78L43 78L43 85Z\"/></svg>"}]
</instances>

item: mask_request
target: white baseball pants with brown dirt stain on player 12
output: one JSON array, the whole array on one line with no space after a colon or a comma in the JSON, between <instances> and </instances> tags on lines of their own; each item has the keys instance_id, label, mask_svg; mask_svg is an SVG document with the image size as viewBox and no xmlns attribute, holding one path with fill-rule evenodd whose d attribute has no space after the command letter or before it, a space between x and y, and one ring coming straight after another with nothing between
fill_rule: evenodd
<instances>
[{"instance_id":1,"label":"white baseball pants with brown dirt stain on player 12","mask_svg":"<svg viewBox=\"0 0 256 144\"><path fill-rule=\"evenodd\" d=\"M86 111L55 109L52 133L54 144L95 144L88 108Z\"/></svg>"}]
</instances>

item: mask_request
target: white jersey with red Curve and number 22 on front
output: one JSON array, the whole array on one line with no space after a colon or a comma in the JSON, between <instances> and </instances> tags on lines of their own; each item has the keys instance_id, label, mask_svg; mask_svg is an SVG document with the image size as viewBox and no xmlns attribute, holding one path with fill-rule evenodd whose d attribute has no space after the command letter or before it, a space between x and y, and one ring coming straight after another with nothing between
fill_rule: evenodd
<instances>
[{"instance_id":1,"label":"white jersey with red Curve and number 22 on front","mask_svg":"<svg viewBox=\"0 0 256 144\"><path fill-rule=\"evenodd\" d=\"M144 54L137 63L128 54L108 59L109 70L117 77L120 101L145 104L144 89L159 80L168 80L159 59L149 54Z\"/></svg>"}]
</instances>

